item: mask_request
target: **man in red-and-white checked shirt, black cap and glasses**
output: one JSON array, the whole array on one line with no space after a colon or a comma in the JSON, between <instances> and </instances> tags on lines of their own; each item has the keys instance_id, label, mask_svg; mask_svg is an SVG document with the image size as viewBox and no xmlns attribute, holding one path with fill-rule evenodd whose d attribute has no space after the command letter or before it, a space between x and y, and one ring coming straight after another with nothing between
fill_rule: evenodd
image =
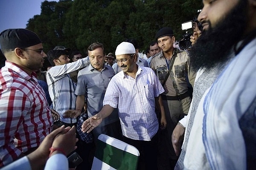
<instances>
[{"instance_id":1,"label":"man in red-and-white checked shirt, black cap and glasses","mask_svg":"<svg viewBox=\"0 0 256 170\"><path fill-rule=\"evenodd\" d=\"M6 57L0 70L0 167L34 151L51 132L52 115L35 71L47 55L27 29L0 33Z\"/></svg>"}]
</instances>

